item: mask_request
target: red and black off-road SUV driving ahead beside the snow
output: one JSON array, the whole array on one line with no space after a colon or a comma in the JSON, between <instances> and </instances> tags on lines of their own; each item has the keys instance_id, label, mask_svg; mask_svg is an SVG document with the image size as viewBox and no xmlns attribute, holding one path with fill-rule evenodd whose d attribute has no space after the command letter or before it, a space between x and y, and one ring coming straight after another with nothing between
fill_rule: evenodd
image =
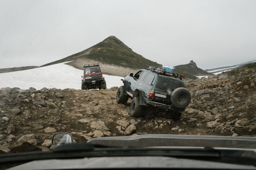
<instances>
[{"instance_id":1,"label":"red and black off-road SUV driving ahead beside the snow","mask_svg":"<svg viewBox=\"0 0 256 170\"><path fill-rule=\"evenodd\" d=\"M92 88L106 89L106 82L102 76L99 64L84 65L84 75L82 75L82 90Z\"/></svg>"}]
</instances>

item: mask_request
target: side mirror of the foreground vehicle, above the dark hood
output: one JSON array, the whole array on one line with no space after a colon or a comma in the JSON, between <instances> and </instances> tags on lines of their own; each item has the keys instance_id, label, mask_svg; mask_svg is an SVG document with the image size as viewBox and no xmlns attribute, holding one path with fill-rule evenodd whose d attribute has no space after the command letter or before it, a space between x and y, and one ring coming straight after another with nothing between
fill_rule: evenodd
<instances>
[{"instance_id":1,"label":"side mirror of the foreground vehicle, above the dark hood","mask_svg":"<svg viewBox=\"0 0 256 170\"><path fill-rule=\"evenodd\" d=\"M53 146L65 145L68 143L73 143L73 137L69 133L55 133L52 138Z\"/></svg>"}]
</instances>

